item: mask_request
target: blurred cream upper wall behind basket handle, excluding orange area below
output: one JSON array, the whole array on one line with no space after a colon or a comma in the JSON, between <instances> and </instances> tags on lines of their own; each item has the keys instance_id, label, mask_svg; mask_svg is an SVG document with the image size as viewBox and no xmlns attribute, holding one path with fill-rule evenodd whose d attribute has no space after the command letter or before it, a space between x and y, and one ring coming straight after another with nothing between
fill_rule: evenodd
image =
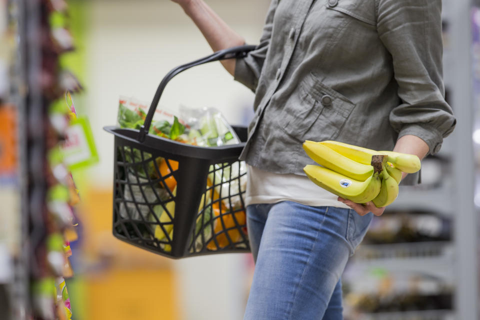
<instances>
[{"instance_id":1,"label":"blurred cream upper wall behind basket handle, excluding orange area below","mask_svg":"<svg viewBox=\"0 0 480 320\"><path fill-rule=\"evenodd\" d=\"M207 1L252 44L258 43L268 2ZM211 49L183 10L168 0L92 1L90 10L87 103L102 159L91 175L109 186L113 147L108 146L113 138L101 128L114 124L118 96L149 103L171 68L208 55ZM252 102L249 89L233 81L220 63L211 63L176 76L165 88L160 105L214 106L230 123L241 123Z\"/></svg>"}]
</instances>

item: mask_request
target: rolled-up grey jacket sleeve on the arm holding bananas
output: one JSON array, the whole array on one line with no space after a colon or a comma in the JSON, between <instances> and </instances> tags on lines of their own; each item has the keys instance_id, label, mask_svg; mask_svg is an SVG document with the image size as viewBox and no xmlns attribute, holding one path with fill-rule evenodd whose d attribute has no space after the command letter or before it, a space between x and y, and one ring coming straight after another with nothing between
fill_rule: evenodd
<instances>
[{"instance_id":1,"label":"rolled-up grey jacket sleeve on the arm holding bananas","mask_svg":"<svg viewBox=\"0 0 480 320\"><path fill-rule=\"evenodd\" d=\"M391 54L401 102L389 120L436 153L456 120L444 99L441 0L377 0L378 34Z\"/></svg>"}]
</instances>

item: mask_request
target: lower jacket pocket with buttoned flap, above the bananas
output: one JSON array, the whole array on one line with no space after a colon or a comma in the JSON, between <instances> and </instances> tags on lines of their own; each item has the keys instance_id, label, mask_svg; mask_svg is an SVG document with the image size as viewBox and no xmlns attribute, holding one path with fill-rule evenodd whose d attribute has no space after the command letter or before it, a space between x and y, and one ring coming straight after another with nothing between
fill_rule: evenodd
<instances>
[{"instance_id":1,"label":"lower jacket pocket with buttoned flap, above the bananas","mask_svg":"<svg viewBox=\"0 0 480 320\"><path fill-rule=\"evenodd\" d=\"M278 123L299 141L335 138L355 104L310 72L290 95Z\"/></svg>"}]
</instances>

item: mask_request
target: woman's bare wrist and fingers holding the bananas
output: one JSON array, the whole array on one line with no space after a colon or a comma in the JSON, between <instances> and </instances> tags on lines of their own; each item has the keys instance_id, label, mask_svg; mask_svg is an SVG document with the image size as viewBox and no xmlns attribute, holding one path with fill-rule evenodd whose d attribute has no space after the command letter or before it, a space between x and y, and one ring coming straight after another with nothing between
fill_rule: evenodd
<instances>
[{"instance_id":1,"label":"woman's bare wrist and fingers holding the bananas","mask_svg":"<svg viewBox=\"0 0 480 320\"><path fill-rule=\"evenodd\" d=\"M428 153L428 144L416 135L407 134L396 141L393 151L415 154L421 160ZM404 178L406 174L407 173L402 172L401 178ZM341 197L338 197L338 201L345 203L360 215L365 215L368 212L372 212L375 215L382 215L385 210L384 206L377 208L372 201L359 204Z\"/></svg>"}]
</instances>

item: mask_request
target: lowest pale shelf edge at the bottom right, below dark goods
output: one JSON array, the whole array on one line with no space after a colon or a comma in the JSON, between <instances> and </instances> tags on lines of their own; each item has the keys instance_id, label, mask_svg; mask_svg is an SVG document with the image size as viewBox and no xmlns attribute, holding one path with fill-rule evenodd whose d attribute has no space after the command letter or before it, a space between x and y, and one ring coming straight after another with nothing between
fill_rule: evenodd
<instances>
[{"instance_id":1,"label":"lowest pale shelf edge at the bottom right, below dark goods","mask_svg":"<svg viewBox=\"0 0 480 320\"><path fill-rule=\"evenodd\" d=\"M365 313L355 317L357 320L454 320L452 310L421 310L405 312Z\"/></svg>"}]
</instances>

